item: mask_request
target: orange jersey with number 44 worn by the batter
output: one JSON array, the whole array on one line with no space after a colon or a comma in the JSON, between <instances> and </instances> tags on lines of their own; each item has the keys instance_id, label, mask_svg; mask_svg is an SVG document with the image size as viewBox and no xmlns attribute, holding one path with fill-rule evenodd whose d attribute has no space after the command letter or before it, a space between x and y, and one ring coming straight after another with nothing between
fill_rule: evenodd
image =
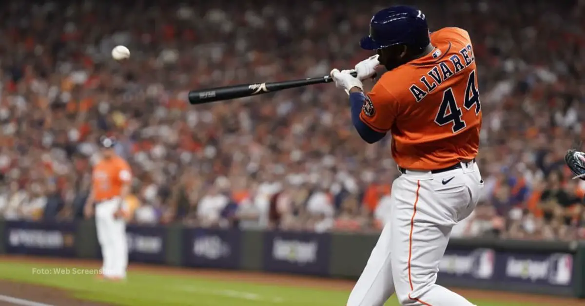
<instances>
[{"instance_id":1,"label":"orange jersey with number 44 worn by the batter","mask_svg":"<svg viewBox=\"0 0 585 306\"><path fill-rule=\"evenodd\" d=\"M384 73L360 119L392 134L392 156L410 170L436 170L473 159L481 108L469 34L447 27L431 34L431 53Z\"/></svg>"}]
</instances>

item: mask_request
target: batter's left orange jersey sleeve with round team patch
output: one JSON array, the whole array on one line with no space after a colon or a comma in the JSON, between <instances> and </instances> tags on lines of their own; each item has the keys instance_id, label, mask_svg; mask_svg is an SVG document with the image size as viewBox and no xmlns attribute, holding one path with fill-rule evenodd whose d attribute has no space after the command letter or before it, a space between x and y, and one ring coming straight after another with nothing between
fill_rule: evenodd
<instances>
[{"instance_id":1,"label":"batter's left orange jersey sleeve with round team patch","mask_svg":"<svg viewBox=\"0 0 585 306\"><path fill-rule=\"evenodd\" d=\"M394 125L398 103L384 87L384 78L378 80L374 88L366 94L360 112L360 121L376 132L386 133Z\"/></svg>"}]
</instances>

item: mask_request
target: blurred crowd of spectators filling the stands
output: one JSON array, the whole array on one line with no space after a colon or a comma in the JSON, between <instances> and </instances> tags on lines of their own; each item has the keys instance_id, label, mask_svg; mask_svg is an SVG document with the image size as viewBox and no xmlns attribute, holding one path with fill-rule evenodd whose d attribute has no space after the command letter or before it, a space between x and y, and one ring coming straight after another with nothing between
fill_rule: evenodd
<instances>
[{"instance_id":1,"label":"blurred crowd of spectators filling the stands","mask_svg":"<svg viewBox=\"0 0 585 306\"><path fill-rule=\"evenodd\" d=\"M585 238L585 2L409 1L469 31L486 192L453 236ZM398 176L330 84L190 106L187 92L326 75L388 1L4 1L0 216L82 218L101 135L134 174L133 222L378 231ZM132 57L110 52L128 46ZM388 137L387 137L388 138Z\"/></svg>"}]
</instances>

